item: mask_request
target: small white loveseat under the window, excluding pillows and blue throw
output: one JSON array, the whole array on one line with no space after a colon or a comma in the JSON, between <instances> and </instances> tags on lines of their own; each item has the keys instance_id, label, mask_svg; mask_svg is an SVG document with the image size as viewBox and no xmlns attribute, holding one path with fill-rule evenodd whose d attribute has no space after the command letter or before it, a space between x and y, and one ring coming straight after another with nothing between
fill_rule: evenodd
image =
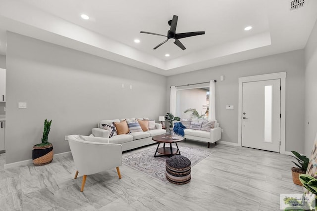
<instances>
[{"instance_id":1,"label":"small white loveseat under the window, excluding pillows and blue throw","mask_svg":"<svg viewBox=\"0 0 317 211\"><path fill-rule=\"evenodd\" d=\"M210 147L210 143L215 143L216 141L221 139L222 128L219 127L218 122L215 120L214 127L210 131L204 130L194 130L186 128L184 129L184 138L208 142L208 148Z\"/></svg>"}]
</instances>

